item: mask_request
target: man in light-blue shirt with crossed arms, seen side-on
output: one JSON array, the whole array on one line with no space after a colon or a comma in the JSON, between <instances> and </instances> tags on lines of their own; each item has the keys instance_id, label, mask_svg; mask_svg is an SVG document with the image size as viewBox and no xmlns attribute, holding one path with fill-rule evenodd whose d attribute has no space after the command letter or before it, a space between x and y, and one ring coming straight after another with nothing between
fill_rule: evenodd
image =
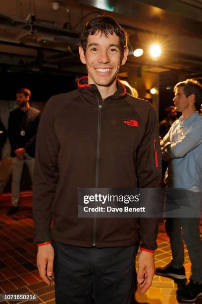
<instances>
[{"instance_id":1,"label":"man in light-blue shirt with crossed arms, seen side-on","mask_svg":"<svg viewBox=\"0 0 202 304\"><path fill-rule=\"evenodd\" d=\"M202 191L202 85L193 79L177 83L173 98L177 111L182 112L179 120L171 126L162 140L163 158L170 160L165 176L169 188L182 188L198 196ZM167 218L166 232L170 238L172 261L155 273L176 279L185 279L183 237L192 263L191 280L183 292L178 292L182 302L195 301L202 295L202 240L200 218ZM181 230L182 227L182 230ZM183 231L183 236L182 236Z\"/></svg>"}]
</instances>

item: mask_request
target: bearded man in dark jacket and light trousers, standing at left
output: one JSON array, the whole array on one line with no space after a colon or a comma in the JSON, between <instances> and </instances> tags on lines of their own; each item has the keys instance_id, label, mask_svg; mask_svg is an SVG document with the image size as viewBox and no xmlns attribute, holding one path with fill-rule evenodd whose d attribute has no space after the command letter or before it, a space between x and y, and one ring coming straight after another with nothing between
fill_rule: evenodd
<instances>
[{"instance_id":1,"label":"bearded man in dark jacket and light trousers, standing at left","mask_svg":"<svg viewBox=\"0 0 202 304\"><path fill-rule=\"evenodd\" d=\"M8 138L12 157L12 206L8 215L18 211L20 179L24 162L26 162L32 179L34 169L35 144L40 111L29 104L31 92L27 88L16 91L16 101L19 108L10 112L8 118Z\"/></svg>"}]
</instances>

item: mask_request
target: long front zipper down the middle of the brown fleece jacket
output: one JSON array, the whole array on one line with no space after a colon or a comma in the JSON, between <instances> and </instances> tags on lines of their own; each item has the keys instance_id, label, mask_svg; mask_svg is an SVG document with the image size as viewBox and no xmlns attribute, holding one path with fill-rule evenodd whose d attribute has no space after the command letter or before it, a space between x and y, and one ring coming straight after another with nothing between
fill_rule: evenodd
<instances>
[{"instance_id":1,"label":"long front zipper down the middle of the brown fleece jacket","mask_svg":"<svg viewBox=\"0 0 202 304\"><path fill-rule=\"evenodd\" d=\"M96 154L96 188L98 188L99 177L99 155L100 155L100 138L101 138L101 104L98 99L98 141L97 141L97 154ZM96 228L97 228L97 216L95 213L94 226L93 226L93 246L96 246Z\"/></svg>"}]
</instances>

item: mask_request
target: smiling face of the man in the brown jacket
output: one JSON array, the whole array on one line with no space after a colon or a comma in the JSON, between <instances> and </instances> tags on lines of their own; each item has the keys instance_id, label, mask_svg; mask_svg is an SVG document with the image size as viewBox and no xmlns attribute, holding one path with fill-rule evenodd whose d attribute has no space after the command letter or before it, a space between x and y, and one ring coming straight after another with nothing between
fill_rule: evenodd
<instances>
[{"instance_id":1,"label":"smiling face of the man in the brown jacket","mask_svg":"<svg viewBox=\"0 0 202 304\"><path fill-rule=\"evenodd\" d=\"M110 86L116 80L120 65L126 62L128 49L124 50L121 60L119 37L116 34L106 37L97 32L88 36L85 55L81 46L79 53L81 62L87 66L89 84Z\"/></svg>"}]
</instances>

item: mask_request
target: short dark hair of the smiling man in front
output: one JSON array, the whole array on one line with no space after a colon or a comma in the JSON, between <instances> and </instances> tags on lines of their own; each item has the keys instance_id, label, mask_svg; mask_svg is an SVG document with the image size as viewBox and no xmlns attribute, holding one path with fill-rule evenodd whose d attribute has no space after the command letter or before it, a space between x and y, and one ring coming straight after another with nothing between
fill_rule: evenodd
<instances>
[{"instance_id":1,"label":"short dark hair of the smiling man in front","mask_svg":"<svg viewBox=\"0 0 202 304\"><path fill-rule=\"evenodd\" d=\"M123 58L124 49L128 44L127 32L109 16L98 16L90 20L83 28L80 36L80 43L84 50L84 54L87 49L87 41L89 35L94 35L96 32L100 32L108 37L108 34L116 34L119 37L121 59Z\"/></svg>"}]
</instances>

